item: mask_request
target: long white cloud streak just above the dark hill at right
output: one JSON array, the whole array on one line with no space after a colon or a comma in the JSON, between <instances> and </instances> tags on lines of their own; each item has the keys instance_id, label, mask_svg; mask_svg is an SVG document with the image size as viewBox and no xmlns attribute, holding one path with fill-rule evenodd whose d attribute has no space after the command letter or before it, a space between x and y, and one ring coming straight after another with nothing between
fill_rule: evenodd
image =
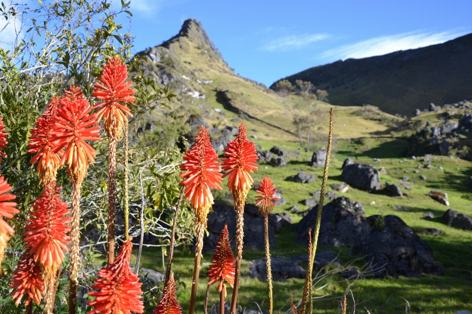
<instances>
[{"instance_id":1,"label":"long white cloud streak just above the dark hill at right","mask_svg":"<svg viewBox=\"0 0 472 314\"><path fill-rule=\"evenodd\" d=\"M392 36L381 36L330 49L324 52L321 57L324 59L334 60L366 58L399 50L408 50L441 44L465 34L467 34L467 32L444 31L441 33L431 33L416 31Z\"/></svg>"}]
</instances>

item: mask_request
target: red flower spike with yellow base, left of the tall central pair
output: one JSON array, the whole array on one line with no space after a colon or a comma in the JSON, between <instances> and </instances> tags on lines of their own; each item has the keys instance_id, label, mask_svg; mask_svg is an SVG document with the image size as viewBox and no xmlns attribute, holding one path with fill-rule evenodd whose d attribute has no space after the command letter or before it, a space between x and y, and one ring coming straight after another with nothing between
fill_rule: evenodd
<instances>
[{"instance_id":1,"label":"red flower spike with yellow base, left of the tall central pair","mask_svg":"<svg viewBox=\"0 0 472 314\"><path fill-rule=\"evenodd\" d=\"M185 197L190 200L198 220L207 225L207 214L214 203L210 188L221 190L219 183L223 179L218 154L214 151L204 126L198 131L195 141L195 146L187 150L183 157L186 162L180 169L187 172L180 174L180 177L185 178L180 184L186 187Z\"/></svg>"}]
</instances>

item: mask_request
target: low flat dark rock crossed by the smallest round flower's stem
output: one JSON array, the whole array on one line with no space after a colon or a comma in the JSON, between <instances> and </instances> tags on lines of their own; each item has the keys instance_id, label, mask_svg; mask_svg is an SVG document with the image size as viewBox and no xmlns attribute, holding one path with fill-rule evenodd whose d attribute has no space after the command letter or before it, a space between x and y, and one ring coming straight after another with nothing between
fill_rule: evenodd
<instances>
[{"instance_id":1,"label":"low flat dark rock crossed by the smallest round flower's stem","mask_svg":"<svg viewBox=\"0 0 472 314\"><path fill-rule=\"evenodd\" d=\"M274 281L286 281L289 278L305 278L306 270L295 261L284 261L282 259L270 258L272 268L272 279ZM267 280L266 259L252 260L249 263L251 276L260 281Z\"/></svg>"}]
</instances>

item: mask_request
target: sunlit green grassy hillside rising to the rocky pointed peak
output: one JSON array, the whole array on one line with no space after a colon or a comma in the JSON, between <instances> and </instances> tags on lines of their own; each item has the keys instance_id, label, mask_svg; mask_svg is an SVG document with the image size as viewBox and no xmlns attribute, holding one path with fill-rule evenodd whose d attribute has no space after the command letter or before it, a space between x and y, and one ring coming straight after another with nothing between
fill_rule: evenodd
<instances>
[{"instance_id":1,"label":"sunlit green grassy hillside rising to the rocky pointed peak","mask_svg":"<svg viewBox=\"0 0 472 314\"><path fill-rule=\"evenodd\" d=\"M262 180L264 176L269 176L277 187L282 189L287 204L277 207L275 212L284 212L295 205L301 210L307 209L301 201L310 198L310 193L320 189L322 169L308 166L307 160L311 158L314 148L326 145L328 112L331 106L334 109L334 145L328 186L341 182L341 165L346 157L357 158L357 162L372 164L378 168L384 167L387 173L382 174L382 184L399 183L403 176L410 178L409 183L412 188L411 190L402 188L406 192L406 195L402 197L390 197L382 192L369 193L353 187L342 195L362 203L367 216L394 214L402 218L434 249L434 258L441 264L445 275L443 277L425 275L421 278L386 277L359 280L352 287L357 303L357 313L403 313L405 300L411 304L412 313L445 314L454 313L456 310L472 310L470 297L472 295L470 285L472 232L457 230L441 223L441 216L448 208L472 216L472 179L470 179L472 164L458 158L432 156L432 169L417 169L418 164L423 164L421 159L401 157L401 153L411 145L407 137L414 132L415 121L426 119L431 123L439 123L440 117L436 113L427 113L410 122L401 122L395 116L381 111L360 106L345 106L347 104L343 102L329 105L295 94L280 97L257 82L236 75L224 62L216 48L208 43L208 40L203 27L197 21L188 20L179 35L161 46L140 54L148 57L147 74L149 76L153 76L159 84L171 82L176 89L178 97L171 110L182 114L183 121L190 114L198 114L210 126L219 129L225 126L237 126L240 122L244 122L250 139L260 145L263 150L277 145L300 153L299 157L289 158L288 165L285 167L274 168L266 162L260 162L259 171L253 175L256 182ZM310 150L305 152L300 146L293 118L309 112L314 113L311 125L313 134ZM149 119L159 121L158 113L154 115ZM398 125L393 127L392 124L397 122ZM159 129L161 127L156 123L156 130L153 132L161 132ZM381 160L374 162L374 158ZM443 170L439 170L439 166L442 166ZM414 173L415 170L419 173ZM318 179L309 184L293 183L287 180L299 171L314 173ZM426 177L425 181L419 179L421 175ZM225 184L226 181L222 183L222 186ZM436 203L425 195L432 188L448 193L450 207ZM341 193L338 192L339 195ZM250 191L248 202L253 203L254 196L255 192ZM397 210L394 206L402 206L408 210ZM432 211L436 218L431 221L421 219L422 213L426 210ZM293 228L296 228L295 224L301 217L292 215L293 225L276 234L276 248L271 250L272 255L307 253L306 247L293 243L292 239L295 236ZM421 232L424 228L436 228L443 234L423 235ZM350 247L328 249L340 252L342 262L358 258L350 256ZM210 256L210 254L205 254L203 259L197 300L198 313L203 313L206 292L205 276ZM241 279L239 290L241 306L247 305L248 308L256 309L254 303L250 302L257 302L263 310L266 310L266 283L247 276L249 272L247 261L263 256L262 251L243 252L244 277ZM184 311L188 309L190 298L193 259L194 253L191 250L178 248L173 263L173 270L180 283L177 291L178 300ZM358 262L356 265L361 264L363 262ZM160 249L156 251L145 248L142 267L162 272ZM337 279L341 282L315 291L316 296L325 294L326 296L316 300L314 313L335 313L337 303L332 302L331 299L339 299L348 286L348 283L343 282L341 278ZM302 286L303 280L300 279L274 283L274 310L277 312L280 309L281 313L288 310L286 302L290 296L299 299L300 292L297 291ZM228 293L231 295L231 289ZM212 288L209 304L212 305L217 298L218 295Z\"/></svg>"}]
</instances>

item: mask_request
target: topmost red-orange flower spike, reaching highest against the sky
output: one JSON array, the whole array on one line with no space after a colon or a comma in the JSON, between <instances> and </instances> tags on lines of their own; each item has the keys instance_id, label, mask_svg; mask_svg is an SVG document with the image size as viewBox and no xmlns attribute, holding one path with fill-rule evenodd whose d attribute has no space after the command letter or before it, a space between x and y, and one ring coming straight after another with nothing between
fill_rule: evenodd
<instances>
[{"instance_id":1,"label":"topmost red-orange flower spike, reaching highest against the sky","mask_svg":"<svg viewBox=\"0 0 472 314\"><path fill-rule=\"evenodd\" d=\"M122 133L125 123L128 123L126 116L132 117L131 110L126 105L120 105L119 102L133 103L135 97L131 96L136 91L131 89L131 81L128 78L128 67L121 64L118 57L108 60L103 71L98 78L92 90L92 97L96 97L103 102L98 104L97 110L98 122L103 118L104 128L108 137L112 140L118 140Z\"/></svg>"}]
</instances>

